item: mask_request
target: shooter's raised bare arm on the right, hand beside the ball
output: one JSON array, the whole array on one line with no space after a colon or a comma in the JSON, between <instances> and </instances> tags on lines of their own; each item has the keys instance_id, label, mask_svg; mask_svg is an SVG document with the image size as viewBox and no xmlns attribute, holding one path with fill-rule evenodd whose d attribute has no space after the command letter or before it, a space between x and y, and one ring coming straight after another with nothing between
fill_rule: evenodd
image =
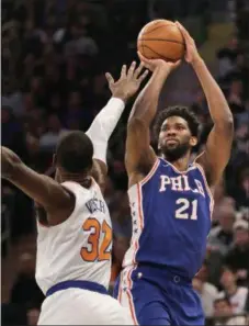
<instances>
[{"instance_id":1,"label":"shooter's raised bare arm on the right, hand beside the ball","mask_svg":"<svg viewBox=\"0 0 249 326\"><path fill-rule=\"evenodd\" d=\"M207 138L205 151L196 159L203 166L210 186L214 186L219 180L230 157L234 137L233 114L220 88L200 57L193 38L181 24L177 24L181 29L185 40L185 59L192 65L197 75L214 122L214 127Z\"/></svg>"}]
</instances>

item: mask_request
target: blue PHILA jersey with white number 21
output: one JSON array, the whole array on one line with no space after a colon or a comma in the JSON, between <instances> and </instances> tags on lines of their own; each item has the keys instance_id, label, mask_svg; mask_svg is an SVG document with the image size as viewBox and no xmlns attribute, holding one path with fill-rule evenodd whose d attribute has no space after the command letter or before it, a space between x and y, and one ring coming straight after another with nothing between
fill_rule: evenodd
<instances>
[{"instance_id":1,"label":"blue PHILA jersey with white number 21","mask_svg":"<svg viewBox=\"0 0 249 326\"><path fill-rule=\"evenodd\" d=\"M128 196L133 237L123 267L156 265L192 279L205 257L213 211L202 167L193 164L181 172L158 158Z\"/></svg>"}]
</instances>

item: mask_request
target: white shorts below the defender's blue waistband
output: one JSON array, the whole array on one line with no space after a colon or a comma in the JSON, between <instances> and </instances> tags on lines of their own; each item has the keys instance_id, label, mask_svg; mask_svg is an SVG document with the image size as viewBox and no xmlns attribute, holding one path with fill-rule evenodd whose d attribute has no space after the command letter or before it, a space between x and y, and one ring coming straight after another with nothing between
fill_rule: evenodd
<instances>
[{"instance_id":1,"label":"white shorts below the defender's blue waistband","mask_svg":"<svg viewBox=\"0 0 249 326\"><path fill-rule=\"evenodd\" d=\"M37 325L132 325L128 312L110 295L82 289L45 299Z\"/></svg>"}]
</instances>

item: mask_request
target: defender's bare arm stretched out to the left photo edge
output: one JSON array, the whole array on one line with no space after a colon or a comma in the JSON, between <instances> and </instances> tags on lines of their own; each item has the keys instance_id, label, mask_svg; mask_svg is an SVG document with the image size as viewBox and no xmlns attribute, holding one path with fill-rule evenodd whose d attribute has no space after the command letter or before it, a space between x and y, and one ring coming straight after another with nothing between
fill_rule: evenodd
<instances>
[{"instance_id":1,"label":"defender's bare arm stretched out to the left photo edge","mask_svg":"<svg viewBox=\"0 0 249 326\"><path fill-rule=\"evenodd\" d=\"M55 212L60 211L63 212L61 220L64 220L64 215L71 214L75 205L73 195L48 176L30 169L16 154L3 146L1 146L1 177L41 204L47 211L48 218L50 215L55 215ZM53 220L50 225L61 222Z\"/></svg>"}]
</instances>

